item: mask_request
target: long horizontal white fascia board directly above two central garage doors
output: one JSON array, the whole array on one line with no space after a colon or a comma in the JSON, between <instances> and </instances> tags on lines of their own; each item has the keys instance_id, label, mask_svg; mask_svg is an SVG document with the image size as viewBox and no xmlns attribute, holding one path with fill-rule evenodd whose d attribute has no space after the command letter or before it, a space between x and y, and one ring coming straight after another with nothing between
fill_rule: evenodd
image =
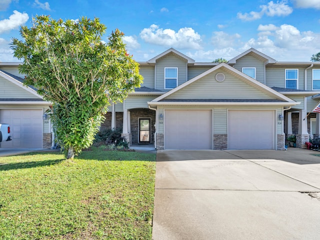
<instances>
[{"instance_id":1,"label":"long horizontal white fascia board directly above two central garage doors","mask_svg":"<svg viewBox=\"0 0 320 240\"><path fill-rule=\"evenodd\" d=\"M148 101L148 105L201 105L201 106L229 106L229 105L236 105L236 106L294 106L298 105L301 102L299 101L291 101L291 102L231 102L231 101L211 101L211 102L187 102L187 101Z\"/></svg>"}]
</instances>

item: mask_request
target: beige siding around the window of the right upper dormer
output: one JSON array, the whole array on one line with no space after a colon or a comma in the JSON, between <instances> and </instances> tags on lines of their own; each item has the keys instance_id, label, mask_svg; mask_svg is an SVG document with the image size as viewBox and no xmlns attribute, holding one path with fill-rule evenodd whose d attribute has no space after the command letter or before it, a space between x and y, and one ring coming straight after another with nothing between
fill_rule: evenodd
<instances>
[{"instance_id":1,"label":"beige siding around the window of the right upper dormer","mask_svg":"<svg viewBox=\"0 0 320 240\"><path fill-rule=\"evenodd\" d=\"M242 56L233 67L242 72L242 67L255 67L255 80L264 83L264 63L253 56Z\"/></svg>"}]
</instances>

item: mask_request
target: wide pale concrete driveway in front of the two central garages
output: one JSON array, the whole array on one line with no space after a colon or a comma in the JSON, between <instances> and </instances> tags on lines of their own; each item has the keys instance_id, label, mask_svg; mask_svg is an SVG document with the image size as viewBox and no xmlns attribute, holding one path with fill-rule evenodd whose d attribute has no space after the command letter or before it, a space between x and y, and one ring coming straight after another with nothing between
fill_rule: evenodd
<instances>
[{"instance_id":1,"label":"wide pale concrete driveway in front of the two central garages","mask_svg":"<svg viewBox=\"0 0 320 240\"><path fill-rule=\"evenodd\" d=\"M158 150L152 239L319 239L311 153Z\"/></svg>"}]
</instances>

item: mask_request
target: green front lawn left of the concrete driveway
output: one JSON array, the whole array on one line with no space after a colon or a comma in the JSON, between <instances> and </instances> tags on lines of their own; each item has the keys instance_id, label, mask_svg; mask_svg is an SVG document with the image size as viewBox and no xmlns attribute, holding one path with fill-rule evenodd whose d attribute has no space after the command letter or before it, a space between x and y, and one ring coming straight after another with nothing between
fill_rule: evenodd
<instances>
[{"instance_id":1,"label":"green front lawn left of the concrete driveway","mask_svg":"<svg viewBox=\"0 0 320 240\"><path fill-rule=\"evenodd\" d=\"M151 239L155 154L0 158L0 239Z\"/></svg>"}]
</instances>

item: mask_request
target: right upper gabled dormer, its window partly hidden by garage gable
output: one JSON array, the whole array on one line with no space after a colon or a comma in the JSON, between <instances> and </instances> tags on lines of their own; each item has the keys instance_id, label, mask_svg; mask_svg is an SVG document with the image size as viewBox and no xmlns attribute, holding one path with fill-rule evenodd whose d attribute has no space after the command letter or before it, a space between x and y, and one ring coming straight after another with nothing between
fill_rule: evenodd
<instances>
[{"instance_id":1,"label":"right upper gabled dormer, its window partly hidden by garage gable","mask_svg":"<svg viewBox=\"0 0 320 240\"><path fill-rule=\"evenodd\" d=\"M276 60L254 48L250 48L228 61L235 69L265 84L265 65Z\"/></svg>"}]
</instances>

